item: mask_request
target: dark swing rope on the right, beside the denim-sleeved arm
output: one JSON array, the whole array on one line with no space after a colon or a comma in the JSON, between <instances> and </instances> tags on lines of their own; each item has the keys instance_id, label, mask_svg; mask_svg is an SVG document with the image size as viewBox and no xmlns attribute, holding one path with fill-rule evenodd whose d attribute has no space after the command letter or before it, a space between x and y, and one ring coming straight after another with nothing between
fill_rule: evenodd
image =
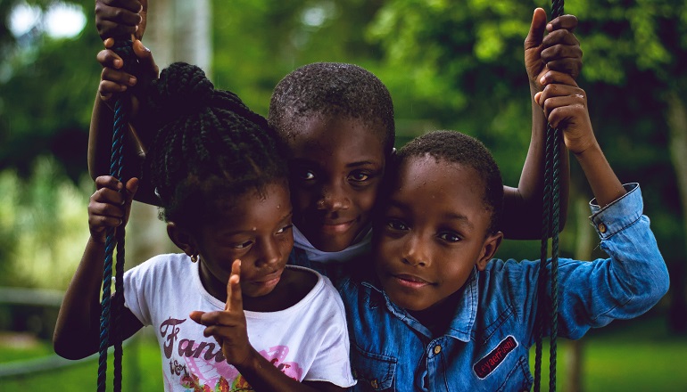
<instances>
[{"instance_id":1,"label":"dark swing rope on the right, beside the denim-sleeved arm","mask_svg":"<svg viewBox=\"0 0 687 392\"><path fill-rule=\"evenodd\" d=\"M551 1L551 20L563 14L563 0ZM542 380L542 339L544 331L543 315L545 310L550 314L550 350L549 350L549 390L556 390L556 356L559 330L559 171L560 171L560 132L550 126L546 127L546 152L544 166L544 194L542 200L542 247L540 253L539 279L537 282L539 308L537 309L535 331L537 334L534 356L534 391L539 392ZM545 301L548 270L548 239L551 238L550 257L550 304ZM548 306L547 306L548 305Z\"/></svg>"}]
</instances>

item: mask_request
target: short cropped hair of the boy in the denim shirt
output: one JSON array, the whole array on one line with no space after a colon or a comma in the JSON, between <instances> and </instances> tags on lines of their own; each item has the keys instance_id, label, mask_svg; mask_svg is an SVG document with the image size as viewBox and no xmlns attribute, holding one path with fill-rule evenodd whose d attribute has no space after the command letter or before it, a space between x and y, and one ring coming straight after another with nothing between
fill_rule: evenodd
<instances>
[{"instance_id":1,"label":"short cropped hair of the boy in the denim shirt","mask_svg":"<svg viewBox=\"0 0 687 392\"><path fill-rule=\"evenodd\" d=\"M427 155L464 167L472 167L484 182L484 207L492 212L487 233L497 231L503 209L503 181L492 153L472 136L456 131L434 131L420 135L404 145L396 154L392 173L404 161ZM454 186L463 186L454 184Z\"/></svg>"}]
</instances>

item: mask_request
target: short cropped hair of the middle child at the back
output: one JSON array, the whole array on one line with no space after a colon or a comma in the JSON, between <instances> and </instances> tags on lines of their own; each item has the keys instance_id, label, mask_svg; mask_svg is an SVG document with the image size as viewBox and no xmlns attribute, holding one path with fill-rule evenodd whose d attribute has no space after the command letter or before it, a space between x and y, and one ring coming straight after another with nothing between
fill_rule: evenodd
<instances>
[{"instance_id":1,"label":"short cropped hair of the middle child at the back","mask_svg":"<svg viewBox=\"0 0 687 392\"><path fill-rule=\"evenodd\" d=\"M304 65L286 75L269 102L269 124L286 138L312 115L361 120L393 150L393 102L384 83L367 69L338 62Z\"/></svg>"}]
</instances>

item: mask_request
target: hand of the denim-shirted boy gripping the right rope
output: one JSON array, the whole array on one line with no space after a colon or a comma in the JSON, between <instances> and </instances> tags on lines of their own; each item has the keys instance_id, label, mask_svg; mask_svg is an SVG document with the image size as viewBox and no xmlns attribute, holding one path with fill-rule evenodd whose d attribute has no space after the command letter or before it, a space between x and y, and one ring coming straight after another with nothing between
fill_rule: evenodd
<instances>
[{"instance_id":1,"label":"hand of the denim-shirted boy gripping the right rope","mask_svg":"<svg viewBox=\"0 0 687 392\"><path fill-rule=\"evenodd\" d=\"M569 75L555 71L544 74L540 83L545 87L534 94L534 101L544 109L551 127L563 132L567 149L581 154L595 145L584 90Z\"/></svg>"}]
</instances>

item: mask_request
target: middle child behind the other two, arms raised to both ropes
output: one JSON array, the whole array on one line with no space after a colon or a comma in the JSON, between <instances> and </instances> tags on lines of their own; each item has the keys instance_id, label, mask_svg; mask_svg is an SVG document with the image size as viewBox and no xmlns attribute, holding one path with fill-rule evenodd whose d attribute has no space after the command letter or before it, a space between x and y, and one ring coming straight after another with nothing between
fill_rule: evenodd
<instances>
[{"instance_id":1,"label":"middle child behind the other two, arms raised to both ropes","mask_svg":"<svg viewBox=\"0 0 687 392\"><path fill-rule=\"evenodd\" d=\"M122 8L112 7L116 1L107 2L108 7L101 3L96 3L102 10L96 12L101 37L108 37L113 31L128 31L126 26L133 31L141 20L137 15L141 7L135 6L136 2L121 1ZM576 22L574 16L565 15L547 26L545 12L541 8L534 11L526 39L526 69L533 96L541 90L538 81L550 67L573 76L578 74L582 52L571 33ZM550 34L543 37L545 29ZM142 30L137 31L139 37ZM142 48L140 41L136 41L139 58L154 73L150 53ZM135 85L130 75L118 70L121 61L114 53L103 51L98 60L105 67L101 96ZM90 137L95 147L89 150L92 176L108 169L112 139L109 132L103 132L112 129L112 125L100 125L96 120L101 118L99 105L102 102L96 100ZM112 118L112 112L107 118ZM309 266L336 280L343 263L369 249L370 216L386 160L393 151L391 96L384 84L366 69L351 64L310 64L279 82L270 102L269 122L289 150L295 224L294 255L290 263ZM517 189L505 189L506 208L501 229L509 238L539 239L542 235L541 219L531 217L542 216L543 151L540 150L545 127L541 110L533 110L532 143L520 184ZM97 140L104 142L99 144ZM565 222L567 159L562 162L561 173L566 173L561 184L561 221ZM155 202L150 187L138 200Z\"/></svg>"}]
</instances>

